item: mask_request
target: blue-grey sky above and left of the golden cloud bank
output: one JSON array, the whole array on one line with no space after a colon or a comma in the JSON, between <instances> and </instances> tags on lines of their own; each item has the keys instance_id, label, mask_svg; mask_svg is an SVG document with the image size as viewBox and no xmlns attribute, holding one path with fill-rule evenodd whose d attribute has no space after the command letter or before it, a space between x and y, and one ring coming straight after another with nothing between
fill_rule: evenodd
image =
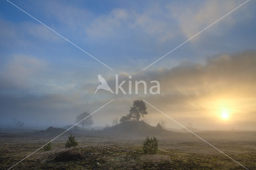
<instances>
[{"instance_id":1,"label":"blue-grey sky above and left of the golden cloud bank","mask_svg":"<svg viewBox=\"0 0 256 170\"><path fill-rule=\"evenodd\" d=\"M96 76L99 73L110 80L115 74L134 74L143 79L143 75L154 77L155 72L158 75L159 70L173 71L176 67L186 67L184 65L207 65L209 59L214 57L233 56L255 50L256 2L253 0L146 71L142 69L245 1L11 2L114 70L111 71L9 2L2 0L0 94L1 100L8 104L1 106L1 114L9 113L3 119L7 123L14 118L22 119L26 115L25 117L32 117L31 123L27 124L34 125L34 119L37 122L42 120L42 125L52 125L64 114L62 124L71 124L74 120L70 112L78 114L88 107L89 111L93 111L112 98L123 102L118 105L127 110L137 96L120 99L108 94L96 96L90 92L96 88ZM157 78L161 79L161 75ZM174 92L166 88L163 93ZM183 94L184 91L175 93ZM46 103L33 103L36 99L39 103ZM12 102L9 100L17 101L10 104ZM19 109L22 113L17 114ZM51 119L54 118L54 121L45 119L45 112L54 115ZM109 108L109 112L116 112L113 116L121 117L127 111L120 113L120 108L114 107L112 111ZM110 124L111 116L107 120ZM152 122L156 123L154 119ZM187 120L184 121L186 123ZM104 124L104 120L96 123Z\"/></svg>"}]
</instances>

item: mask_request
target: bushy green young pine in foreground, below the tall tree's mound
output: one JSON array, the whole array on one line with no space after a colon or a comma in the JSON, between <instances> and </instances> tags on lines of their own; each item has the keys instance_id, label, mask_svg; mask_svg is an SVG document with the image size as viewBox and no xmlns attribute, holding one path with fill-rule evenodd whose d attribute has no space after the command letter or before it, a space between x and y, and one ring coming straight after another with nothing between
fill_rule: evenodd
<instances>
[{"instance_id":1,"label":"bushy green young pine in foreground, below the tall tree's mound","mask_svg":"<svg viewBox=\"0 0 256 170\"><path fill-rule=\"evenodd\" d=\"M146 138L146 140L143 142L143 152L144 154L156 154L156 151L158 150L158 140L155 137Z\"/></svg>"}]
</instances>

